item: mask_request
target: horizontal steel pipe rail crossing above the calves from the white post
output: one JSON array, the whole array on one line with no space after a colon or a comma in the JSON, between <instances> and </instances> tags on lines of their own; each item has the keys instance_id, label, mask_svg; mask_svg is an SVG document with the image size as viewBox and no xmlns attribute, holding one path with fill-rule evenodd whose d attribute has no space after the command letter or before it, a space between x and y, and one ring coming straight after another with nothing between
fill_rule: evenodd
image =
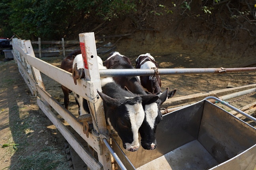
<instances>
[{"instance_id":1,"label":"horizontal steel pipe rail crossing above the calves from the white post","mask_svg":"<svg viewBox=\"0 0 256 170\"><path fill-rule=\"evenodd\" d=\"M178 74L222 74L226 72L256 71L256 67L245 68L158 68L159 75ZM153 69L100 69L100 77L154 76Z\"/></svg>"}]
</instances>

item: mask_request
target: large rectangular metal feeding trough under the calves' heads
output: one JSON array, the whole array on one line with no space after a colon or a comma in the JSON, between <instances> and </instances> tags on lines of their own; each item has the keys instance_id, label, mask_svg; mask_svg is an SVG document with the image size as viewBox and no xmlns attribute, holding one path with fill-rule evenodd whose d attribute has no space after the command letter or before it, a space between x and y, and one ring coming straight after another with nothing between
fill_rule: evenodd
<instances>
[{"instance_id":1,"label":"large rectangular metal feeding trough under the calves' heads","mask_svg":"<svg viewBox=\"0 0 256 170\"><path fill-rule=\"evenodd\" d=\"M114 136L112 147L128 170L253 170L256 164L256 128L206 99L164 115L156 141L155 150L128 152Z\"/></svg>"}]
</instances>

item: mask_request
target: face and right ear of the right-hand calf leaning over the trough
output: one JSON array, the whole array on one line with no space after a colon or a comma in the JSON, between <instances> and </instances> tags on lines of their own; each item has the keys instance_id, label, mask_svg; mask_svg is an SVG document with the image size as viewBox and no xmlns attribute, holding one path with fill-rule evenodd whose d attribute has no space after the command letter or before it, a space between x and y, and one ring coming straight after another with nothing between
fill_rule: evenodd
<instances>
[{"instance_id":1,"label":"face and right ear of the right-hand calf leaning over the trough","mask_svg":"<svg viewBox=\"0 0 256 170\"><path fill-rule=\"evenodd\" d=\"M145 111L144 121L139 128L141 146L146 150L156 148L156 127L162 120L160 106L166 101L168 88L159 96L159 99L151 104L143 105Z\"/></svg>"}]
</instances>

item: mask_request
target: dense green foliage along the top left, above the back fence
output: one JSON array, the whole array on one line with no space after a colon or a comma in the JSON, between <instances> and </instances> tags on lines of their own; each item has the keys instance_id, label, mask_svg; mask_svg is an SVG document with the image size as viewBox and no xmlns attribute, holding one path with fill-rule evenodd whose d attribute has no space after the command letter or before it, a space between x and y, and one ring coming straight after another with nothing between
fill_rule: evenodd
<instances>
[{"instance_id":1,"label":"dense green foliage along the top left, above the back fence","mask_svg":"<svg viewBox=\"0 0 256 170\"><path fill-rule=\"evenodd\" d=\"M2 0L0 35L9 30L23 39L60 39L74 18L110 20L130 11L136 11L135 0Z\"/></svg>"}]
</instances>

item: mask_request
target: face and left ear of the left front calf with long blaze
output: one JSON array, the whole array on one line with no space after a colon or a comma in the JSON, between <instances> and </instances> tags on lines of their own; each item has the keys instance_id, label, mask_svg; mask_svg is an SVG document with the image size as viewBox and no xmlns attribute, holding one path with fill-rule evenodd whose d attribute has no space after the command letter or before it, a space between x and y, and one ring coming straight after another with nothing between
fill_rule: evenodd
<instances>
[{"instance_id":1,"label":"face and left ear of the left front calf with long blaze","mask_svg":"<svg viewBox=\"0 0 256 170\"><path fill-rule=\"evenodd\" d=\"M139 148L139 127L145 112L142 107L142 98L124 97L116 100L104 93L98 92L104 102L105 116L111 128L117 132L122 140L124 149L135 152Z\"/></svg>"}]
</instances>

